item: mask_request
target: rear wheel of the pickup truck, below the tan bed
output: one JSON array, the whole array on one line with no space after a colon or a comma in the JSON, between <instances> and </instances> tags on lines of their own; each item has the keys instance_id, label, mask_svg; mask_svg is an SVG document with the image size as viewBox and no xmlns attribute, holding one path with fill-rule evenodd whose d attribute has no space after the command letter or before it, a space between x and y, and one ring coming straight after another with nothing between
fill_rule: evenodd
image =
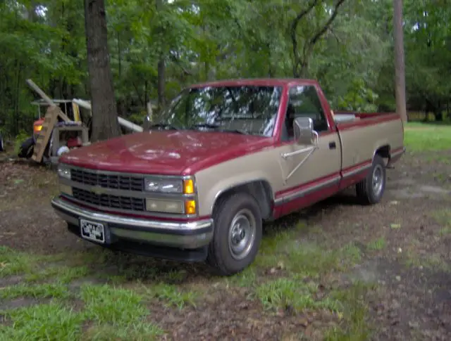
<instances>
[{"instance_id":1,"label":"rear wheel of the pickup truck, below the tan bed","mask_svg":"<svg viewBox=\"0 0 451 341\"><path fill-rule=\"evenodd\" d=\"M376 154L370 172L356 185L357 198L364 205L377 204L383 197L386 181L385 162Z\"/></svg>"}]
</instances>

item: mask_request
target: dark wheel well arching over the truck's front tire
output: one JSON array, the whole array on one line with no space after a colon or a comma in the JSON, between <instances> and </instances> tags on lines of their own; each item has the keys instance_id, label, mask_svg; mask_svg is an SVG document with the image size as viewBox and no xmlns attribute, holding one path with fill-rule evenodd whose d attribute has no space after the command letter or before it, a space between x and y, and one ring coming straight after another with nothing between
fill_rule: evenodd
<instances>
[{"instance_id":1,"label":"dark wheel well arching over the truck's front tire","mask_svg":"<svg viewBox=\"0 0 451 341\"><path fill-rule=\"evenodd\" d=\"M261 217L263 219L269 219L271 217L271 201L273 200L273 191L268 181L264 180L248 182L223 191L223 193L218 195L216 198L213 205L213 210L216 207L216 203L219 202L221 198L243 192L252 195L252 197L257 200L260 207Z\"/></svg>"}]
</instances>

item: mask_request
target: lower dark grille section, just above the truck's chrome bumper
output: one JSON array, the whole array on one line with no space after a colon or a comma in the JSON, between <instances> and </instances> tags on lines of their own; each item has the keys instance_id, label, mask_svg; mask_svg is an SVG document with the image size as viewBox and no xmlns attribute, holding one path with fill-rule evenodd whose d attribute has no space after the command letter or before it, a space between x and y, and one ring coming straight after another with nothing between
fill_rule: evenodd
<instances>
[{"instance_id":1,"label":"lower dark grille section, just above the truck's chrome bumper","mask_svg":"<svg viewBox=\"0 0 451 341\"><path fill-rule=\"evenodd\" d=\"M144 211L145 202L143 198L130 198L110 194L96 194L81 188L72 188L73 197L81 202L110 207L120 210Z\"/></svg>"}]
</instances>

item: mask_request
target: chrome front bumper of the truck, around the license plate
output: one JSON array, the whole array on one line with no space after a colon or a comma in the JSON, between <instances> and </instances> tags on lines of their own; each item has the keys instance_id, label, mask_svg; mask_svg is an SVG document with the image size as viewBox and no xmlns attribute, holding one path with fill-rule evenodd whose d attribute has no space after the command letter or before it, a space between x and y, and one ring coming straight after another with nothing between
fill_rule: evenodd
<instances>
[{"instance_id":1,"label":"chrome front bumper of the truck, around the license plate","mask_svg":"<svg viewBox=\"0 0 451 341\"><path fill-rule=\"evenodd\" d=\"M213 236L213 219L173 222L121 217L87 210L61 198L52 199L51 206L68 224L78 226L79 219L105 224L112 242L126 239L152 245L196 249L208 245Z\"/></svg>"}]
</instances>

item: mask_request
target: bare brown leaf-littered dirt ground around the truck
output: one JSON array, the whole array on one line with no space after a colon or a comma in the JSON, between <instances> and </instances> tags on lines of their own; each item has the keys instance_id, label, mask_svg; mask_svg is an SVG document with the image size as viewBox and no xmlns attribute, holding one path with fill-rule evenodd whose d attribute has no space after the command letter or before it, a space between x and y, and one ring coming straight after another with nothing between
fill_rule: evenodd
<instances>
[{"instance_id":1,"label":"bare brown leaf-littered dirt ground around the truck","mask_svg":"<svg viewBox=\"0 0 451 341\"><path fill-rule=\"evenodd\" d=\"M407 153L395 169L388 170L388 186L379 205L359 205L350 190L281 221L282 225L298 220L307 224L299 240L314 240L330 248L350 242L359 247L359 264L338 280L376 283L377 295L366 300L369 323L376 328L371 340L451 340L450 160L450 151ZM26 162L6 161L0 168L0 245L39 255L96 247L66 232L51 209L49 198L57 193L54 172ZM271 233L265 238L271 238ZM269 314L259 302L247 300L247 288L218 285L223 282L202 264L133 257L125 264L132 269L142 262L146 269L132 279L145 283L178 271L175 284L209 293L201 303L182 311L150 304L152 319L171 330L168 339L304 340L287 336L302 330L307 340L313 340L314 330L333 320L309 311ZM115 261L108 264L102 270L105 274L128 270ZM11 285L14 278L8 281L0 281L0 287Z\"/></svg>"}]
</instances>

